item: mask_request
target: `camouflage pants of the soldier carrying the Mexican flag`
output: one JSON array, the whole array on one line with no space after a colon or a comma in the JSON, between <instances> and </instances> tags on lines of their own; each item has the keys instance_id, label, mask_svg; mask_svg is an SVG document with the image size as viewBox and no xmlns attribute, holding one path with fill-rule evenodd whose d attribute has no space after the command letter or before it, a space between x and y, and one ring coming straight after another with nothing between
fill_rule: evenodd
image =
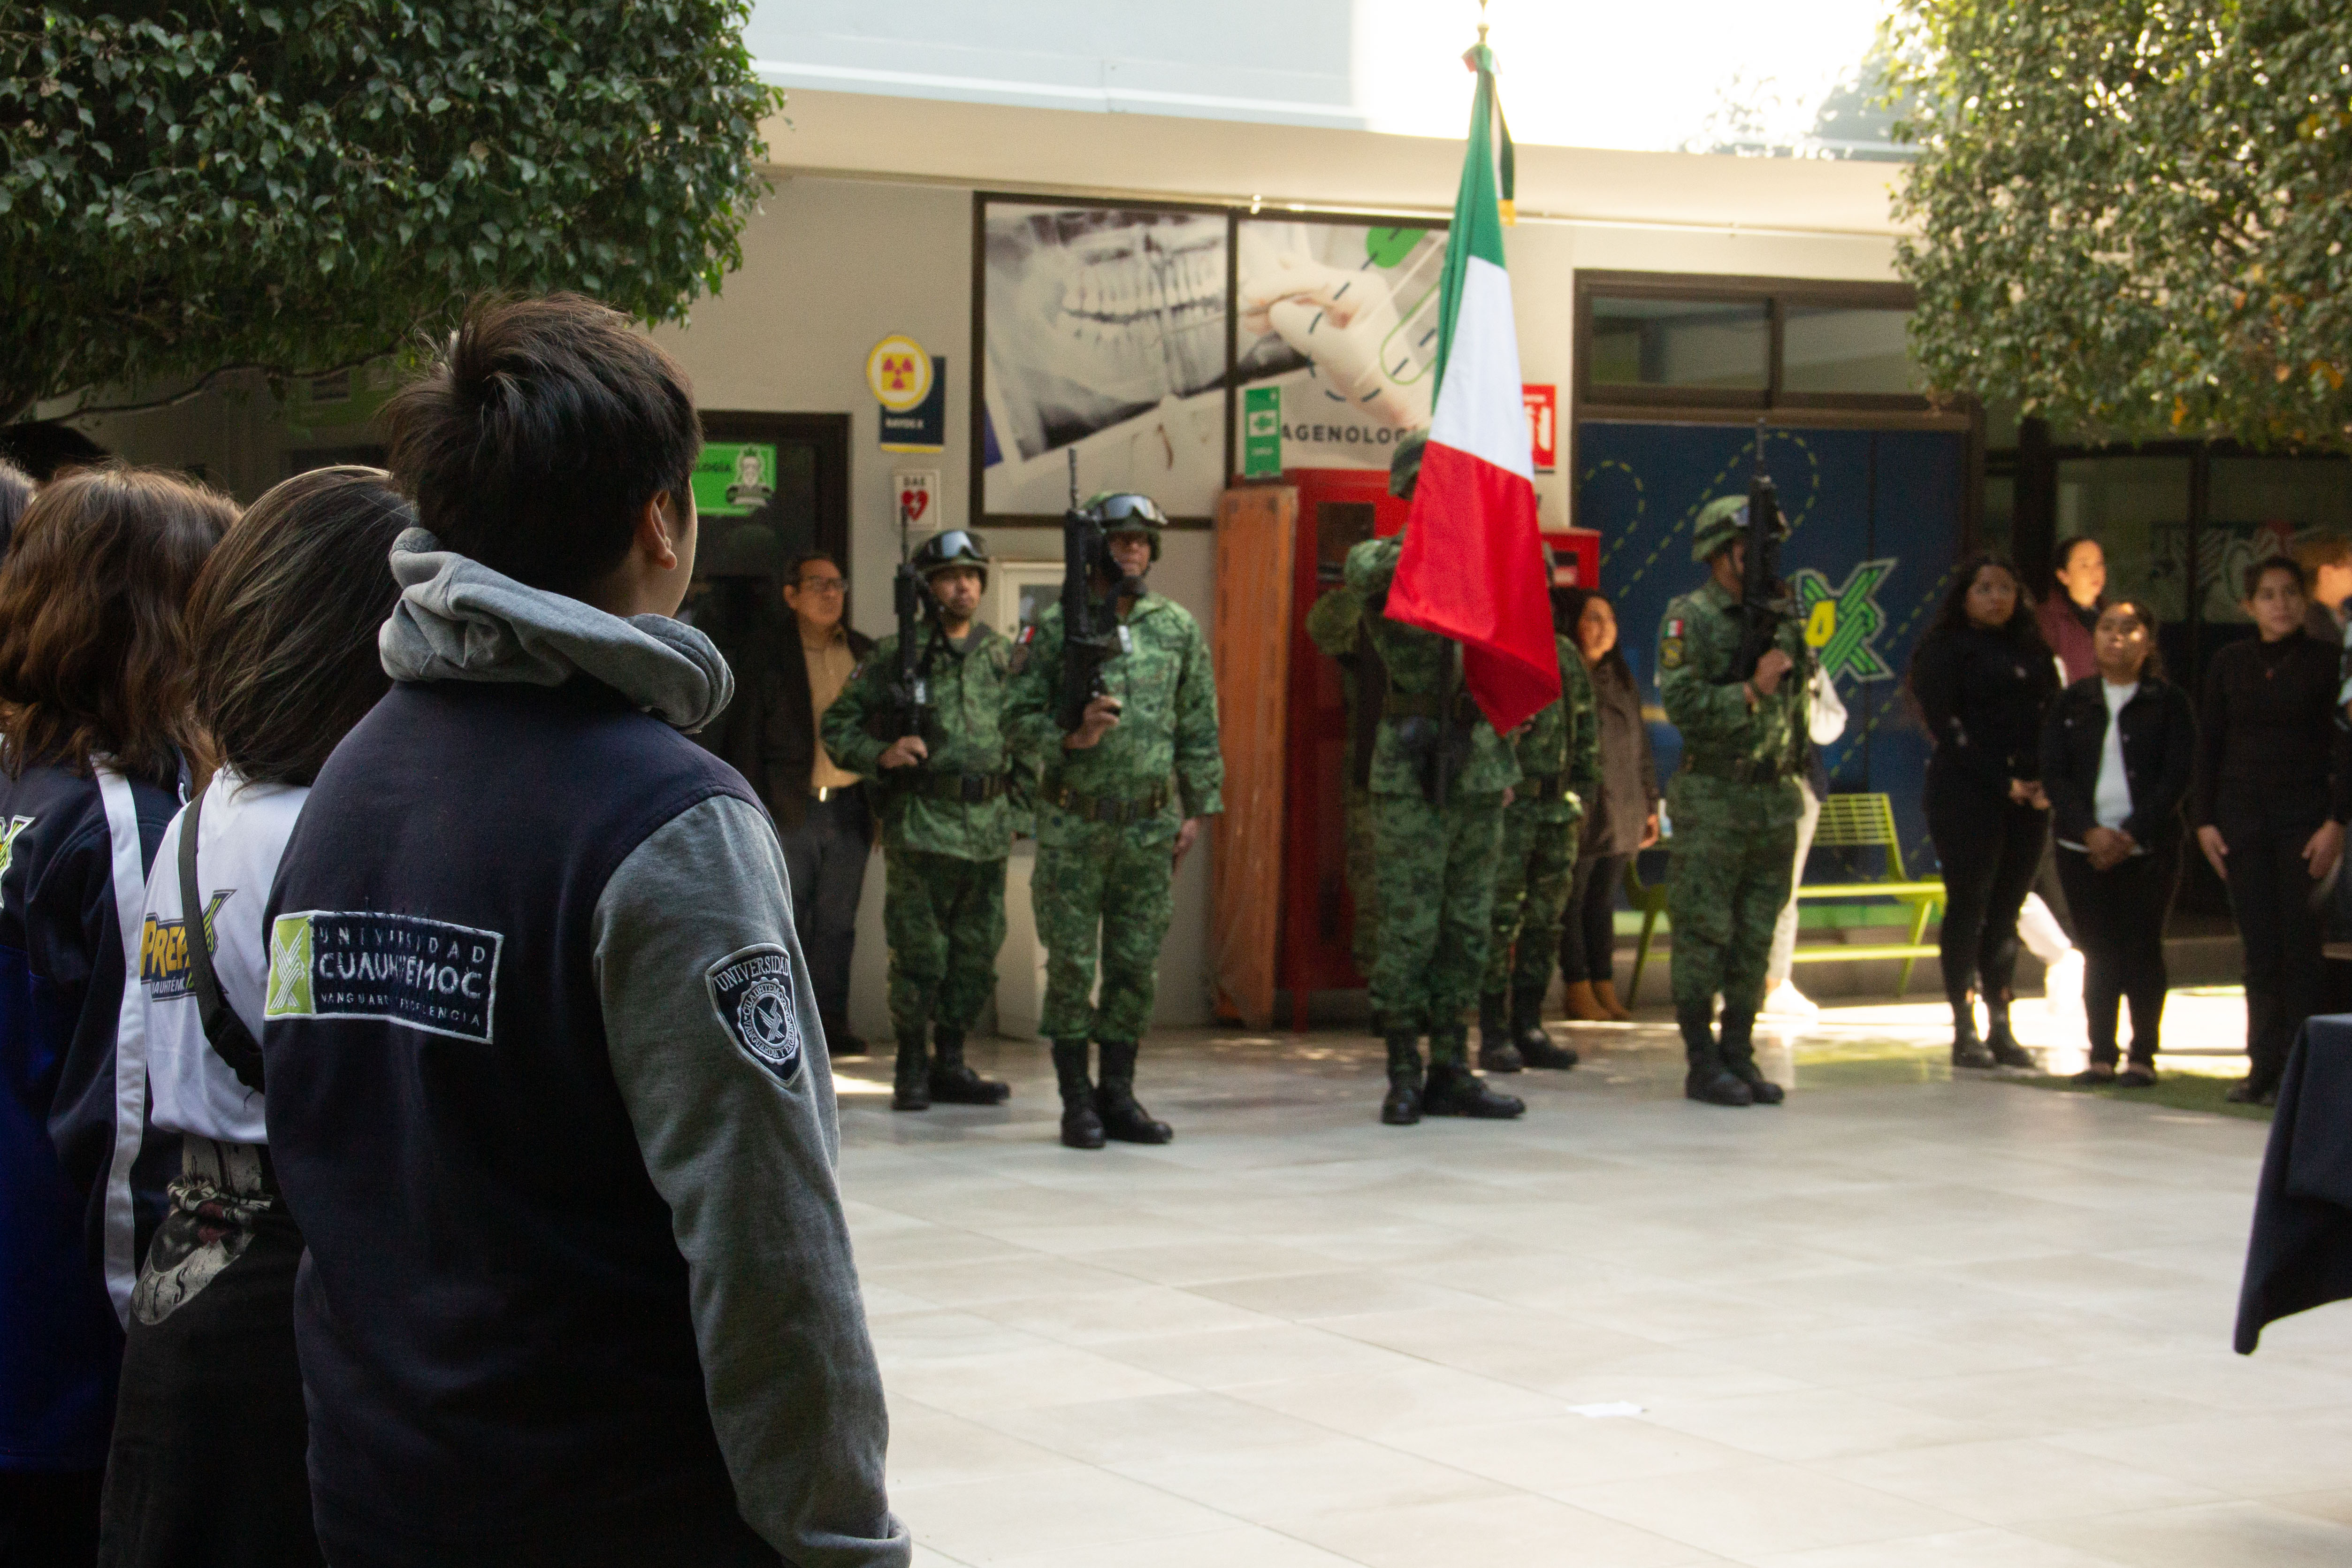
<instances>
[{"instance_id":1,"label":"camouflage pants of the soldier carrying the Mexican flag","mask_svg":"<svg viewBox=\"0 0 2352 1568\"><path fill-rule=\"evenodd\" d=\"M1371 1011L1399 1034L1458 1034L1486 971L1503 797L1456 795L1439 811L1418 795L1374 795L1371 816L1381 851Z\"/></svg>"}]
</instances>

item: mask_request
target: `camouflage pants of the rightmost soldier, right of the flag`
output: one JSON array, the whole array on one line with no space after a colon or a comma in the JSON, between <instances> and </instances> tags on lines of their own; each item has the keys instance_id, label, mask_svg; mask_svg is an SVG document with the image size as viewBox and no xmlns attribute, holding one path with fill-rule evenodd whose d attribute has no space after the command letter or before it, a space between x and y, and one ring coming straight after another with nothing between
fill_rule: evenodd
<instances>
[{"instance_id":1,"label":"camouflage pants of the rightmost soldier, right of the flag","mask_svg":"<svg viewBox=\"0 0 2352 1568\"><path fill-rule=\"evenodd\" d=\"M1795 778L1731 783L1675 773L1675 865L1665 912L1675 924L1675 1011L1755 1016L1764 1004L1771 931L1788 903L1802 797Z\"/></svg>"}]
</instances>

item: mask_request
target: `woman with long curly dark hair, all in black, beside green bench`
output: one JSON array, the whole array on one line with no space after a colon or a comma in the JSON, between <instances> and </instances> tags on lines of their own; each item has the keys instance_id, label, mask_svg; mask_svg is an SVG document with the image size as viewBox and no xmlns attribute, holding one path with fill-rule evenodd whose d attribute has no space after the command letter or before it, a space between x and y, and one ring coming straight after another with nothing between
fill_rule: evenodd
<instances>
[{"instance_id":1,"label":"woman with long curly dark hair, all in black, beside green bench","mask_svg":"<svg viewBox=\"0 0 2352 1568\"><path fill-rule=\"evenodd\" d=\"M1952 1001L1955 1067L2032 1067L2009 1030L2018 907L2042 863L2042 710L2058 665L2016 569L1992 555L1962 562L1910 668L1912 698L1936 743L1926 764L1926 830L1943 860L1943 992ZM1976 992L1985 1039L1976 1037Z\"/></svg>"}]
</instances>

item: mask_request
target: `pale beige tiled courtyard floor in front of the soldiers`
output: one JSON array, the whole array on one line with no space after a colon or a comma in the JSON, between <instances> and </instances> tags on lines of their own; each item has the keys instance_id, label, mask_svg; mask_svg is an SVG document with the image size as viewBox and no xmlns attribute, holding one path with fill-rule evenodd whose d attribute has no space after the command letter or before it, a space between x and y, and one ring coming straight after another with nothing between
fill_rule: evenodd
<instances>
[{"instance_id":1,"label":"pale beige tiled courtyard floor in front of the soldiers","mask_svg":"<svg viewBox=\"0 0 2352 1568\"><path fill-rule=\"evenodd\" d=\"M2352 1305L2230 1354L2263 1124L1929 1039L1832 1016L1729 1112L1588 1030L1517 1124L1383 1128L1369 1039L1169 1034L1176 1143L1101 1154L1042 1048L922 1117L844 1063L917 1563L2352 1563Z\"/></svg>"}]
</instances>

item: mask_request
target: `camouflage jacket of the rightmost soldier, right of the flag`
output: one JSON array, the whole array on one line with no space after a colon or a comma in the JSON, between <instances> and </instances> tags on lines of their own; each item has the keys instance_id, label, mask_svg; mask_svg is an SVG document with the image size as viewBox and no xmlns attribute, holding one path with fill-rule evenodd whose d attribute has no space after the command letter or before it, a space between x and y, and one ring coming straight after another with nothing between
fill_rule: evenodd
<instances>
[{"instance_id":1,"label":"camouflage jacket of the rightmost soldier, right of the flag","mask_svg":"<svg viewBox=\"0 0 2352 1568\"><path fill-rule=\"evenodd\" d=\"M1658 623L1658 701L1682 731L1682 766L1733 778L1736 769L1778 764L1783 778L1804 771L1804 705L1811 651L1804 623L1780 623L1773 646L1797 661L1755 710L1731 679L1740 651L1738 599L1708 578L1665 607Z\"/></svg>"}]
</instances>

